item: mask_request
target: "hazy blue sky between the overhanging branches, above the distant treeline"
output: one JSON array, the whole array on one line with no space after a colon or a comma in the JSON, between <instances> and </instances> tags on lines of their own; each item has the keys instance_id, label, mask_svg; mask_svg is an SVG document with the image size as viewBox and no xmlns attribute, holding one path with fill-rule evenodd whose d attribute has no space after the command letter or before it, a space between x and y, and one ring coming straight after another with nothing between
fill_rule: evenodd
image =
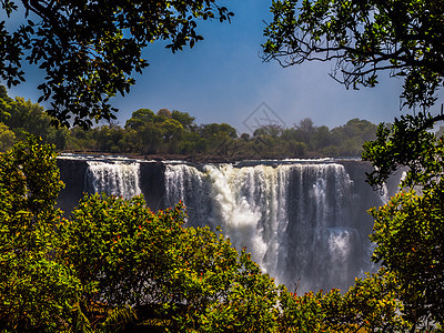
<instances>
[{"instance_id":1,"label":"hazy blue sky between the overhanging branches, above the distant treeline","mask_svg":"<svg viewBox=\"0 0 444 333\"><path fill-rule=\"evenodd\" d=\"M253 118L256 122L264 119L259 117L264 108L268 115L287 127L304 118L330 128L353 118L390 122L401 113L402 82L385 73L377 88L355 91L329 77L331 63L311 62L286 69L278 62L263 63L263 21L271 20L271 0L221 3L235 14L231 24L202 22L199 32L204 40L192 50L172 54L164 49L165 43L154 43L145 51L150 67L135 77L130 94L113 99L122 125L141 108L185 111L198 123L226 122L240 132L250 131ZM10 89L10 94L36 102L34 87L42 74L31 75L27 83Z\"/></svg>"}]
</instances>

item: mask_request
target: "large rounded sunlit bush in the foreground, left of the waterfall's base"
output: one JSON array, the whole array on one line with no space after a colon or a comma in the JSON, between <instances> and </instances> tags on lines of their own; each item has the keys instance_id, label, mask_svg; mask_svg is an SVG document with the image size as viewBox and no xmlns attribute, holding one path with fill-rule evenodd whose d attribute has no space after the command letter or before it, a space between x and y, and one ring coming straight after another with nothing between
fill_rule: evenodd
<instances>
[{"instance_id":1,"label":"large rounded sunlit bush in the foreground, left of the waterfall's base","mask_svg":"<svg viewBox=\"0 0 444 333\"><path fill-rule=\"evenodd\" d=\"M56 258L77 272L88 321L98 309L132 305L139 322L169 319L180 331L269 332L273 281L222 235L183 228L183 205L153 213L140 196L80 202L59 228Z\"/></svg>"}]
</instances>

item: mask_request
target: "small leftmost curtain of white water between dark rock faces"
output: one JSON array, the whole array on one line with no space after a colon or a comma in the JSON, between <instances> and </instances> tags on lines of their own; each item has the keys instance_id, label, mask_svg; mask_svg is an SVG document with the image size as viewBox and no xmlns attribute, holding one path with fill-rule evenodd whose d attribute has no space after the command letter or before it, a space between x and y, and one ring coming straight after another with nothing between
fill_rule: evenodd
<instances>
[{"instance_id":1,"label":"small leftmost curtain of white water between dark rock faces","mask_svg":"<svg viewBox=\"0 0 444 333\"><path fill-rule=\"evenodd\" d=\"M88 161L85 190L88 193L107 193L123 199L141 194L139 186L139 163L122 161Z\"/></svg>"}]
</instances>

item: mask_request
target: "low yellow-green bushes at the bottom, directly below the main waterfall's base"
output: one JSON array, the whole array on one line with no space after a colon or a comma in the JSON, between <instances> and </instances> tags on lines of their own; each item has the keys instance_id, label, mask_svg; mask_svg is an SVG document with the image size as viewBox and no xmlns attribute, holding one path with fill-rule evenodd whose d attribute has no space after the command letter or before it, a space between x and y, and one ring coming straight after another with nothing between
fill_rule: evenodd
<instances>
[{"instance_id":1,"label":"low yellow-green bushes at the bottom, directly below the main waterfall's base","mask_svg":"<svg viewBox=\"0 0 444 333\"><path fill-rule=\"evenodd\" d=\"M397 281L385 271L356 279L343 295L331 290L299 296L281 286L280 332L405 332L412 325L397 295Z\"/></svg>"}]
</instances>

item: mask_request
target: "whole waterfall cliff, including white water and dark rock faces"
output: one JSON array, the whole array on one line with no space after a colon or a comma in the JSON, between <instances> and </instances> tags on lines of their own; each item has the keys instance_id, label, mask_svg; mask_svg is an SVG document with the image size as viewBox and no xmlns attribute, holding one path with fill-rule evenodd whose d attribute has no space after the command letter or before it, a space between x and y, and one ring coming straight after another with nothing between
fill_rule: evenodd
<instances>
[{"instance_id":1,"label":"whole waterfall cliff, including white water and dark rock faces","mask_svg":"<svg viewBox=\"0 0 444 333\"><path fill-rule=\"evenodd\" d=\"M193 164L110 157L62 155L65 189L59 205L72 210L83 192L131 198L144 194L159 210L182 200L188 225L221 226L240 250L246 246L263 271L290 291L346 290L375 268L370 261L373 221L366 210L385 192L365 183L359 160L283 160Z\"/></svg>"}]
</instances>

